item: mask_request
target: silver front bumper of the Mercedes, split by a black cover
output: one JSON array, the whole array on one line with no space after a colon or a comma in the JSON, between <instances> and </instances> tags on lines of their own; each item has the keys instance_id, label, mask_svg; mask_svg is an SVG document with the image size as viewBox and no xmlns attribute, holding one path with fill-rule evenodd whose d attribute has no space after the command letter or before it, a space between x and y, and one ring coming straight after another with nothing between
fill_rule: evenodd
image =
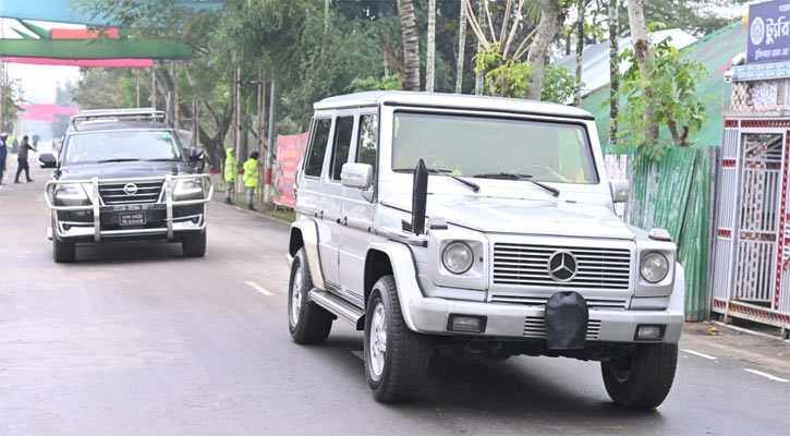
<instances>
[{"instance_id":1,"label":"silver front bumper of the Mercedes, split by a black cover","mask_svg":"<svg viewBox=\"0 0 790 436\"><path fill-rule=\"evenodd\" d=\"M543 339L543 306L453 301L423 298L409 306L414 327L429 335L459 335L448 330L451 314L485 316L485 331L477 337L502 339ZM636 343L640 325L663 325L665 343L677 343L683 328L683 313L664 311L591 310L587 341ZM469 334L464 334L469 335ZM648 342L648 341L645 341ZM655 342L655 341L653 341Z\"/></svg>"}]
</instances>

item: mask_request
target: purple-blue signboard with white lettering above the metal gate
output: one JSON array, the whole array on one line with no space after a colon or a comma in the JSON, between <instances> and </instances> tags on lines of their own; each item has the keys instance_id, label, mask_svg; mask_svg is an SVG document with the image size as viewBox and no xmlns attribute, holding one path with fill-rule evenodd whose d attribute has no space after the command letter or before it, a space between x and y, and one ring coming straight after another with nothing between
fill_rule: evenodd
<instances>
[{"instance_id":1,"label":"purple-blue signboard with white lettering above the metal gate","mask_svg":"<svg viewBox=\"0 0 790 436\"><path fill-rule=\"evenodd\" d=\"M790 0L749 7L749 63L790 59Z\"/></svg>"}]
</instances>

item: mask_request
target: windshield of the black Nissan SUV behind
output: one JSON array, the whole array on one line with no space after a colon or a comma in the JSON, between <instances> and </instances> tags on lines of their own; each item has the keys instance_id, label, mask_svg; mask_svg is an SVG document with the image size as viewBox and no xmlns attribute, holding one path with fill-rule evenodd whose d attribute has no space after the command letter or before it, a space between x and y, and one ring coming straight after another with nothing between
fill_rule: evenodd
<instances>
[{"instance_id":1,"label":"windshield of the black Nissan SUV behind","mask_svg":"<svg viewBox=\"0 0 790 436\"><path fill-rule=\"evenodd\" d=\"M69 136L63 164L134 160L181 160L181 146L168 131L76 133Z\"/></svg>"}]
</instances>

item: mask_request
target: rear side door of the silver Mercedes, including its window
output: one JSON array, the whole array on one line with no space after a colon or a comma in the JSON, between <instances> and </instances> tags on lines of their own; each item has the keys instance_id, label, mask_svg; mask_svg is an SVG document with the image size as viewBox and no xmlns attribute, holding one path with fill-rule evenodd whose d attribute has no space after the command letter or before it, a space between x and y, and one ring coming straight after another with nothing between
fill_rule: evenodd
<instances>
[{"instance_id":1,"label":"rear side door of the silver Mercedes, including its window","mask_svg":"<svg viewBox=\"0 0 790 436\"><path fill-rule=\"evenodd\" d=\"M343 206L343 186L340 183L340 172L343 164L349 158L353 130L353 112L338 112L332 122L327 164L321 174L321 196L318 199L318 209L321 216L321 219L318 220L318 240L324 267L324 280L327 282L327 290L333 292L340 292L338 250L340 246Z\"/></svg>"}]
</instances>

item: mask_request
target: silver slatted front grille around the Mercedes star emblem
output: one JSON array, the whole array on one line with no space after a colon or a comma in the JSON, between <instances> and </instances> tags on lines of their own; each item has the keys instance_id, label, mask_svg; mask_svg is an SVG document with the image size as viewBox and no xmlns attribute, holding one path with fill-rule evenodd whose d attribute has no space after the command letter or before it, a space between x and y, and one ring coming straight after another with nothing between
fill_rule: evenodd
<instances>
[{"instance_id":1,"label":"silver slatted front grille around the Mercedes star emblem","mask_svg":"<svg viewBox=\"0 0 790 436\"><path fill-rule=\"evenodd\" d=\"M570 281L556 281L548 271L549 257L558 251L571 252L578 271ZM591 249L494 244L494 283L584 289L628 289L631 252L625 249Z\"/></svg>"}]
</instances>

